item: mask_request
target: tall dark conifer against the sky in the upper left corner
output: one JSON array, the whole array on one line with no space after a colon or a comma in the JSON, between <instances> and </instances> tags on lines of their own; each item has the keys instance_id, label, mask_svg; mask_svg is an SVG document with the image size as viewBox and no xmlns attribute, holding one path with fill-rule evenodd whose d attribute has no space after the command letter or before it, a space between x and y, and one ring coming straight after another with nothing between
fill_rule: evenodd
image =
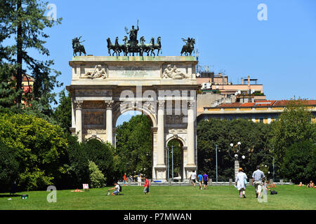
<instances>
[{"instance_id":1,"label":"tall dark conifer against the sky in the upper left corner","mask_svg":"<svg viewBox=\"0 0 316 224\"><path fill-rule=\"evenodd\" d=\"M6 50L4 53L6 60L15 67L15 72L11 73L16 80L15 104L19 107L23 99L28 106L28 111L32 109L33 113L40 111L49 116L51 103L55 102L55 93L52 93L52 90L61 85L57 80L60 72L51 69L53 60L36 59L28 52L28 49L32 48L38 50L41 55L49 56L49 50L44 46L45 39L49 36L44 33L44 29L60 24L61 19L48 20L44 16L46 6L47 3L37 0L1 1L0 43L7 38L15 37L14 45L5 47L1 45L1 48ZM35 79L34 87L32 92L22 95L22 73L27 73L27 71Z\"/></svg>"}]
</instances>

